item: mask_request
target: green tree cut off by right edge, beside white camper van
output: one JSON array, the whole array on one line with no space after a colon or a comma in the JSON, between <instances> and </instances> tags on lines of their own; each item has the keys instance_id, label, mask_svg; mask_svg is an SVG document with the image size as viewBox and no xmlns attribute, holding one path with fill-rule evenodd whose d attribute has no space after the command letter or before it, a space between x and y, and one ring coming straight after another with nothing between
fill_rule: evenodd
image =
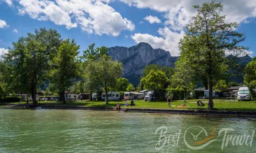
<instances>
[{"instance_id":1,"label":"green tree cut off by right edge, beside white camper van","mask_svg":"<svg viewBox=\"0 0 256 153\"><path fill-rule=\"evenodd\" d=\"M248 86L253 99L256 99L256 60L252 60L245 67L244 83Z\"/></svg>"}]
</instances>

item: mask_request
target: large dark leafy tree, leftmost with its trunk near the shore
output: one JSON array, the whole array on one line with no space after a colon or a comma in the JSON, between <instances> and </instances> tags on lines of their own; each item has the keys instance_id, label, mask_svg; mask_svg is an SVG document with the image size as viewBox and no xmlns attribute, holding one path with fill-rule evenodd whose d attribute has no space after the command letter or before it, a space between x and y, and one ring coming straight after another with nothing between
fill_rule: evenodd
<instances>
[{"instance_id":1,"label":"large dark leafy tree, leftmost with its trunk near the shore","mask_svg":"<svg viewBox=\"0 0 256 153\"><path fill-rule=\"evenodd\" d=\"M56 55L61 41L60 34L54 29L36 29L35 33L28 33L14 42L4 58L9 79L14 80L9 85L14 91L17 87L20 92L30 90L33 104L36 104L36 89L47 80L50 60Z\"/></svg>"}]
</instances>

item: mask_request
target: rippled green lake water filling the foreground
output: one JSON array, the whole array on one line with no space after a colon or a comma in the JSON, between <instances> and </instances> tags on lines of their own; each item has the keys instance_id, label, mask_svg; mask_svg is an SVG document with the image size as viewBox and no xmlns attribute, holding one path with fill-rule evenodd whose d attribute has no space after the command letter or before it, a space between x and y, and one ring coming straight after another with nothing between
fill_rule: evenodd
<instances>
[{"instance_id":1,"label":"rippled green lake water filling the foreground","mask_svg":"<svg viewBox=\"0 0 256 153\"><path fill-rule=\"evenodd\" d=\"M254 118L0 109L0 153L255 153L255 128Z\"/></svg>"}]
</instances>

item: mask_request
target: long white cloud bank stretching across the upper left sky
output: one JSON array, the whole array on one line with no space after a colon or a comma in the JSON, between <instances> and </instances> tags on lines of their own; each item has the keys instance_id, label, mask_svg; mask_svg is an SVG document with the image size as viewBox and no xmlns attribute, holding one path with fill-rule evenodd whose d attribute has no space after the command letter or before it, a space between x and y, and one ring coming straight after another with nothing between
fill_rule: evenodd
<instances>
[{"instance_id":1,"label":"long white cloud bank stretching across the upper left sky","mask_svg":"<svg viewBox=\"0 0 256 153\"><path fill-rule=\"evenodd\" d=\"M107 3L111 0L20 0L19 13L38 20L50 20L67 29L80 25L83 31L118 36L122 30L134 30L134 24L122 18Z\"/></svg>"}]
</instances>

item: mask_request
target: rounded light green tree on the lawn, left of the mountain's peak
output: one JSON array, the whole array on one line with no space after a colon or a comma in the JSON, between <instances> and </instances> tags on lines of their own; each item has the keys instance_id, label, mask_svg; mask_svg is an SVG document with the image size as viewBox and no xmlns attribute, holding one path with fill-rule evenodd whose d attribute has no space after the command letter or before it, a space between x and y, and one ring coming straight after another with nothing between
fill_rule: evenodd
<instances>
[{"instance_id":1,"label":"rounded light green tree on the lawn, left of the mountain's peak","mask_svg":"<svg viewBox=\"0 0 256 153\"><path fill-rule=\"evenodd\" d=\"M122 75L122 63L102 55L98 60L89 60L85 71L88 82L100 85L108 93L108 88L114 87L116 79ZM106 94L106 104L108 104L108 94Z\"/></svg>"}]
</instances>

